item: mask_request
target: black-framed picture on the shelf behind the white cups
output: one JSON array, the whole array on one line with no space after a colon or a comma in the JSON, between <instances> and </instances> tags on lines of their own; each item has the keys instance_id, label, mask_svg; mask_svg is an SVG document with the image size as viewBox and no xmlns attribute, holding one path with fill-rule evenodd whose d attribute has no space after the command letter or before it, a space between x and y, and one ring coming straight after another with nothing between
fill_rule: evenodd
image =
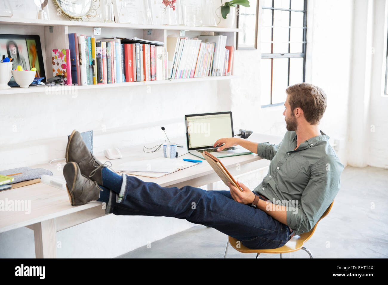
<instances>
[{"instance_id":1,"label":"black-framed picture on the shelf behind the white cups","mask_svg":"<svg viewBox=\"0 0 388 285\"><path fill-rule=\"evenodd\" d=\"M6 35L0 34L0 56L12 58L12 70L21 66L23 70L36 68L35 77L46 77L43 65L42 47L38 35ZM45 79L42 80L46 82ZM8 83L9 86L19 86L14 78Z\"/></svg>"}]
</instances>

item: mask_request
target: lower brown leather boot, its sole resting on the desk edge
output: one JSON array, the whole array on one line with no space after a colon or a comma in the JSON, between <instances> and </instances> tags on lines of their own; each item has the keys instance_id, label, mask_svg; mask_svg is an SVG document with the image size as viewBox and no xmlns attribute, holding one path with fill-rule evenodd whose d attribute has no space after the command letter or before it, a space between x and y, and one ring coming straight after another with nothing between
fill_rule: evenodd
<instances>
[{"instance_id":1,"label":"lower brown leather boot, its sole resting on the desk edge","mask_svg":"<svg viewBox=\"0 0 388 285\"><path fill-rule=\"evenodd\" d=\"M80 168L75 162L66 163L63 168L63 176L66 180L71 205L83 205L100 198L100 191L103 190L96 181L81 174Z\"/></svg>"}]
</instances>

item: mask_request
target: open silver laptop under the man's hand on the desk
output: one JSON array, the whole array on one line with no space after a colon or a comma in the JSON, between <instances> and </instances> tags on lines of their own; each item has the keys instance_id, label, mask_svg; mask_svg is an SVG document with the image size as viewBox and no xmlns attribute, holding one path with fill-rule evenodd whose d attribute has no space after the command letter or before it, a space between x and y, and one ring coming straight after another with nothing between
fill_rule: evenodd
<instances>
[{"instance_id":1,"label":"open silver laptop under the man's hand on the desk","mask_svg":"<svg viewBox=\"0 0 388 285\"><path fill-rule=\"evenodd\" d=\"M234 137L232 112L185 115L185 124L187 150L197 157L204 159L204 150L218 158L252 153L240 146L228 147L222 151L213 147L220 138Z\"/></svg>"}]
</instances>

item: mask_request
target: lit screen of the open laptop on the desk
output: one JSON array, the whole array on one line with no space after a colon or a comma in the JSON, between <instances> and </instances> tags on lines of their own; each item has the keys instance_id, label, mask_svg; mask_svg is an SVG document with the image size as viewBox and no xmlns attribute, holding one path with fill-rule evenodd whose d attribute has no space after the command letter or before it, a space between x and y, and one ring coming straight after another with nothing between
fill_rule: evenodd
<instances>
[{"instance_id":1,"label":"lit screen of the open laptop on the desk","mask_svg":"<svg viewBox=\"0 0 388 285\"><path fill-rule=\"evenodd\" d=\"M187 150L213 147L220 138L233 137L232 112L185 116Z\"/></svg>"}]
</instances>

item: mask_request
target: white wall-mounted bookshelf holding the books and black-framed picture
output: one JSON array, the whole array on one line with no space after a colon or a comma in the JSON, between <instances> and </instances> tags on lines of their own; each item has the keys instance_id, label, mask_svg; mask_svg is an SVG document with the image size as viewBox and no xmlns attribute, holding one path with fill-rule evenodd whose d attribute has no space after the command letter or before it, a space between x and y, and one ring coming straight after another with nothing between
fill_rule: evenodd
<instances>
[{"instance_id":1,"label":"white wall-mounted bookshelf holding the books and black-framed picture","mask_svg":"<svg viewBox=\"0 0 388 285\"><path fill-rule=\"evenodd\" d=\"M38 19L21 19L0 17L0 27L9 34L30 34L39 35L42 46L43 62L45 66L45 78L52 77L51 71L51 50L55 48L69 48L68 34L78 33L95 36L97 39L111 38L112 36L130 38L138 37L146 40L163 41L167 48L167 37L179 37L181 31L185 31L185 36L194 38L199 35L227 36L227 45L235 46L236 33L240 29L236 28L217 28L217 27L188 27L188 26L161 26L161 25L140 25L140 24L121 24L121 23L104 23L104 22L84 22L69 20L38 20ZM101 28L100 35L94 35L94 28ZM47 92L55 93L55 88L62 88L64 92L78 92L87 89L97 88L116 88L131 86L147 86L159 84L176 84L201 81L221 81L237 78L232 69L231 76L209 76L204 78L185 78L185 79L166 79L161 81L140 81L114 84L84 85L84 86L46 86L46 87L29 87L0 90L0 95L19 94L19 93L37 93Z\"/></svg>"}]
</instances>

